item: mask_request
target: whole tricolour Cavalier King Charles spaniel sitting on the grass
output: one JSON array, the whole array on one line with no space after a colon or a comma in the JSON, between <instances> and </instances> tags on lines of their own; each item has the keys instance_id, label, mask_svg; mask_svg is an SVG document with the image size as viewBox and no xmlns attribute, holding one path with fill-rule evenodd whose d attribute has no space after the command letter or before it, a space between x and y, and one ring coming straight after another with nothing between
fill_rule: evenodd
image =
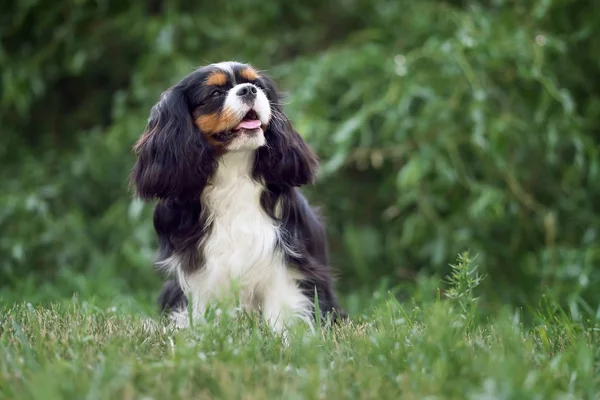
<instances>
[{"instance_id":1,"label":"whole tricolour Cavalier King Charles spaniel sitting on the grass","mask_svg":"<svg viewBox=\"0 0 600 400\"><path fill-rule=\"evenodd\" d=\"M196 69L162 94L134 150L131 182L157 200L157 266L172 277L159 305L177 326L233 281L240 306L276 330L345 317L325 229L298 189L318 159L266 74L237 62Z\"/></svg>"}]
</instances>

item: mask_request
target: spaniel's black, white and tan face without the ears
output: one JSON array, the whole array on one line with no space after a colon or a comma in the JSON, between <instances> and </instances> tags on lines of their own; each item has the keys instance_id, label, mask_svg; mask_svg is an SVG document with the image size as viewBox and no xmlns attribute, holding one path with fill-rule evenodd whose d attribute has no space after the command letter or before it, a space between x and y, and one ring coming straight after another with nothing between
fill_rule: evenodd
<instances>
[{"instance_id":1,"label":"spaniel's black, white and tan face without the ears","mask_svg":"<svg viewBox=\"0 0 600 400\"><path fill-rule=\"evenodd\" d=\"M210 65L188 82L194 124L217 153L254 150L265 144L271 120L266 82L251 66L238 63Z\"/></svg>"}]
</instances>

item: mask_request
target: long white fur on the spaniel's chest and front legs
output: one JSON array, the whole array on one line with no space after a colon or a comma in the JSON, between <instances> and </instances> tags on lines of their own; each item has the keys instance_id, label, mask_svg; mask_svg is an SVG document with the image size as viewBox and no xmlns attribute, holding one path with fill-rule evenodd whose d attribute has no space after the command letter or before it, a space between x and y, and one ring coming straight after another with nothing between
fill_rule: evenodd
<instances>
[{"instance_id":1,"label":"long white fur on the spaniel's chest and front legs","mask_svg":"<svg viewBox=\"0 0 600 400\"><path fill-rule=\"evenodd\" d=\"M262 311L275 328L293 317L309 321L312 303L297 286L301 276L285 265L276 246L276 222L260 206L263 188L251 178L253 157L251 152L235 152L220 159L202 196L204 217L211 225L199 249L205 264L191 276L180 276L182 287L194 317L235 287L240 305Z\"/></svg>"}]
</instances>

